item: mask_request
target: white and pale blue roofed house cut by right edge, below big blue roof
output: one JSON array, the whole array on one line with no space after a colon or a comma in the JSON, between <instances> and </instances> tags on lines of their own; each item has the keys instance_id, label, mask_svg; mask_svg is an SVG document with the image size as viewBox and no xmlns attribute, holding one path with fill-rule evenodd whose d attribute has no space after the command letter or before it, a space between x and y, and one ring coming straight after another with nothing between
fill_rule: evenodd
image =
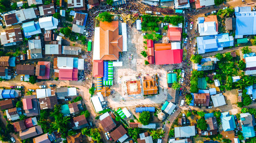
<instances>
[{"instance_id":1,"label":"white and pale blue roofed house cut by right edge, below big blue roof","mask_svg":"<svg viewBox=\"0 0 256 143\"><path fill-rule=\"evenodd\" d=\"M245 57L245 75L254 75L256 74L256 56Z\"/></svg>"}]
</instances>

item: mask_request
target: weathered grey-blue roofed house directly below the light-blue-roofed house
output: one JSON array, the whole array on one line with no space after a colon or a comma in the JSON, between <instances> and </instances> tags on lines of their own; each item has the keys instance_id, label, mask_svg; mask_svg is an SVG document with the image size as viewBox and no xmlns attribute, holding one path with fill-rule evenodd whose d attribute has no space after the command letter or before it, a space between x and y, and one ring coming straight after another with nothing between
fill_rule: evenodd
<instances>
[{"instance_id":1,"label":"weathered grey-blue roofed house directly below the light-blue-roofed house","mask_svg":"<svg viewBox=\"0 0 256 143\"><path fill-rule=\"evenodd\" d=\"M42 58L42 49L41 49L41 40L33 39L28 40L29 49L27 50L28 59L41 59Z\"/></svg>"}]
</instances>

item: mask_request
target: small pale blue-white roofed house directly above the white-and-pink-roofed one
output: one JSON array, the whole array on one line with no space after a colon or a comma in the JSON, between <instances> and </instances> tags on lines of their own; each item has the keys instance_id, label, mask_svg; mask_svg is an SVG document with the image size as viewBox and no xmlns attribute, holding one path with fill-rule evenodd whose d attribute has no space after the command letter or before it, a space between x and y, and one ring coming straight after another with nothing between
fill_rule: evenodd
<instances>
[{"instance_id":1,"label":"small pale blue-white roofed house directly above the white-and-pink-roofed one","mask_svg":"<svg viewBox=\"0 0 256 143\"><path fill-rule=\"evenodd\" d=\"M45 45L45 54L61 54L61 41L53 41Z\"/></svg>"}]
</instances>

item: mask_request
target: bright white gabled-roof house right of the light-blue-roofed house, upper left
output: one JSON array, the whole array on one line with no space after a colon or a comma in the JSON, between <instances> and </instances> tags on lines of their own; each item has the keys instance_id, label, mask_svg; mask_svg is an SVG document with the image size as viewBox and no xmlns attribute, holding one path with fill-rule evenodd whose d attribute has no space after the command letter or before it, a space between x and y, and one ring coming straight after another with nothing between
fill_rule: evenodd
<instances>
[{"instance_id":1,"label":"bright white gabled-roof house right of the light-blue-roofed house, upper left","mask_svg":"<svg viewBox=\"0 0 256 143\"><path fill-rule=\"evenodd\" d=\"M57 29L58 19L52 16L42 17L42 18L39 18L39 25L40 25L40 28L45 28L46 31Z\"/></svg>"}]
</instances>

